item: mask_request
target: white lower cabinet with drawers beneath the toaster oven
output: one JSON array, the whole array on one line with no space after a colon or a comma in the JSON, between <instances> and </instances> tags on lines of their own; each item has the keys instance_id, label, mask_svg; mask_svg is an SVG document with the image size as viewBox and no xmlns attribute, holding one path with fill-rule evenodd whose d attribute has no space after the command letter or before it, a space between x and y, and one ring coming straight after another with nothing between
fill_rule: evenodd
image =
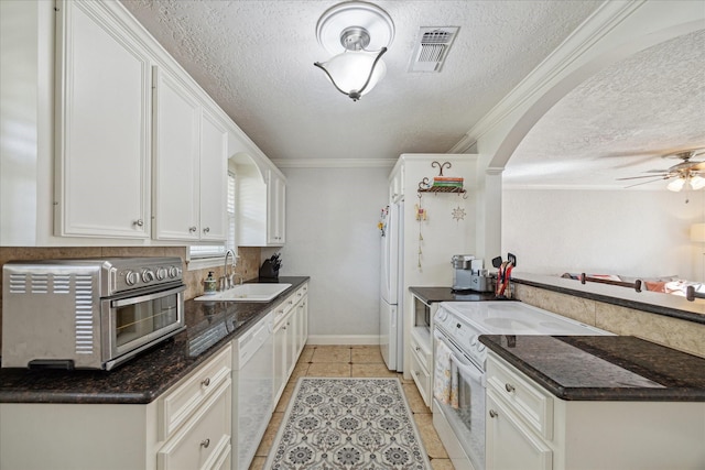
<instances>
[{"instance_id":1,"label":"white lower cabinet with drawers beneath the toaster oven","mask_svg":"<svg viewBox=\"0 0 705 470\"><path fill-rule=\"evenodd\" d=\"M0 469L230 468L231 348L147 405L0 403Z\"/></svg>"}]
</instances>

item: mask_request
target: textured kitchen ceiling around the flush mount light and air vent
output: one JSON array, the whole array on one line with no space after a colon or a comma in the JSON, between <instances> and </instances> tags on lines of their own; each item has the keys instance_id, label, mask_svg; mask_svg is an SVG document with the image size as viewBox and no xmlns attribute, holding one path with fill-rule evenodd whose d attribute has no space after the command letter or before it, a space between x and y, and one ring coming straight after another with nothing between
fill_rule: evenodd
<instances>
[{"instance_id":1,"label":"textured kitchen ceiling around the flush mount light and air vent","mask_svg":"<svg viewBox=\"0 0 705 470\"><path fill-rule=\"evenodd\" d=\"M122 0L272 160L447 152L600 1L377 1L386 78L360 101L313 66L337 1ZM460 26L440 74L409 73L421 26Z\"/></svg>"}]
</instances>

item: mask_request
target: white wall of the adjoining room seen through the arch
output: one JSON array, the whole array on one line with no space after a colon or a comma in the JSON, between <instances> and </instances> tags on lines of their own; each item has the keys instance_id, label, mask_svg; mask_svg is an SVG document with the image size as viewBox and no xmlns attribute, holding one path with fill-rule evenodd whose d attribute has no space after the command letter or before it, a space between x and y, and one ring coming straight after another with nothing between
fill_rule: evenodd
<instances>
[{"instance_id":1,"label":"white wall of the adjoining room seen through the arch","mask_svg":"<svg viewBox=\"0 0 705 470\"><path fill-rule=\"evenodd\" d=\"M521 272L702 281L703 247L690 227L704 217L703 190L505 189L502 253L514 253Z\"/></svg>"}]
</instances>

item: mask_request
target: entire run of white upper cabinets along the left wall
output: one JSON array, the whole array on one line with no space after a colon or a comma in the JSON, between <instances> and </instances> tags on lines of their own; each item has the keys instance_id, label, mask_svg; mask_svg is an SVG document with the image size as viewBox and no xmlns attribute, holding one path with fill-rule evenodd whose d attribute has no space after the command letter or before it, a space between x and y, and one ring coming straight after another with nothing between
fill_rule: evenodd
<instances>
[{"instance_id":1,"label":"entire run of white upper cabinets along the left wall","mask_svg":"<svg viewBox=\"0 0 705 470\"><path fill-rule=\"evenodd\" d=\"M2 65L36 68L3 81L13 101L2 123L29 139L2 157L21 162L0 178L13 189L0 198L3 243L220 243L228 157L251 155L263 217L253 244L283 244L283 175L120 2L2 11L17 23L2 30ZM271 195L269 170L280 178Z\"/></svg>"}]
</instances>

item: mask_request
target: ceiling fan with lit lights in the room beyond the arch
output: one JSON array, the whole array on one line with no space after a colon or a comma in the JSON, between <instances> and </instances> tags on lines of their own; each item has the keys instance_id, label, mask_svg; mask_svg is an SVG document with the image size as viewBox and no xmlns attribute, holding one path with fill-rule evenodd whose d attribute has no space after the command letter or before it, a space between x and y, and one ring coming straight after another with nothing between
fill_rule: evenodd
<instances>
[{"instance_id":1,"label":"ceiling fan with lit lights in the room beyond the arch","mask_svg":"<svg viewBox=\"0 0 705 470\"><path fill-rule=\"evenodd\" d=\"M662 155L663 159L680 159L681 163L671 166L668 170L651 170L646 173L652 173L643 176L631 176L627 178L617 178L617 181L651 178L647 182L636 183L626 186L628 188L639 185L646 185L664 179L673 179L668 184L666 189L680 192L690 185L691 188L697 190L705 188L705 161L691 160L694 156L705 153L705 149L683 150L680 152Z\"/></svg>"}]
</instances>

